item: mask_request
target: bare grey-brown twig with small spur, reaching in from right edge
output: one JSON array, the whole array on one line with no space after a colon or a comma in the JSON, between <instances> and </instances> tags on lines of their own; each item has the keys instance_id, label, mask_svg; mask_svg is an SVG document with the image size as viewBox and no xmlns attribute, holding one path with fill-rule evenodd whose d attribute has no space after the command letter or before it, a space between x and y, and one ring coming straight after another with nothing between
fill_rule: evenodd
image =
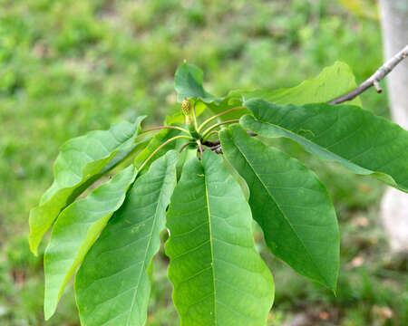
<instances>
[{"instance_id":1,"label":"bare grey-brown twig with small spur, reaching in from right edge","mask_svg":"<svg viewBox=\"0 0 408 326\"><path fill-rule=\"evenodd\" d=\"M395 66L402 62L408 56L408 44L405 45L403 50L399 53L396 53L393 58L385 62L374 74L367 79L365 82L361 83L355 90L349 91L338 98L335 98L332 101L329 101L329 104L339 104L345 101L353 100L356 96L360 95L363 91L369 89L370 87L374 86L377 92L382 92L383 89L380 86L380 81L384 79L384 77L393 71Z\"/></svg>"}]
</instances>

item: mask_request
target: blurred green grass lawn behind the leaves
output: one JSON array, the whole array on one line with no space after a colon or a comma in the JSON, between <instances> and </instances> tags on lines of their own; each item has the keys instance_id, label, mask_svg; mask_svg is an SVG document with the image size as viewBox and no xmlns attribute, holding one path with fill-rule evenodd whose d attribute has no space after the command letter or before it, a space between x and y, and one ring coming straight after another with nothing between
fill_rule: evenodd
<instances>
[{"instance_id":1,"label":"blurred green grass lawn behind the leaves","mask_svg":"<svg viewBox=\"0 0 408 326\"><path fill-rule=\"evenodd\" d=\"M28 211L51 184L63 141L134 115L158 123L178 110L173 74L184 59L224 95L295 86L336 60L362 82L383 61L381 49L373 14L329 0L0 0L0 325L45 325L42 256L28 249ZM388 116L386 92L366 91L362 100ZM378 220L383 187L288 140L276 145L329 188L342 252L334 296L268 254L257 231L277 287L268 324L408 325L407 259L388 254ZM179 324L166 264L161 251L149 325ZM72 286L47 325L79 325Z\"/></svg>"}]
</instances>

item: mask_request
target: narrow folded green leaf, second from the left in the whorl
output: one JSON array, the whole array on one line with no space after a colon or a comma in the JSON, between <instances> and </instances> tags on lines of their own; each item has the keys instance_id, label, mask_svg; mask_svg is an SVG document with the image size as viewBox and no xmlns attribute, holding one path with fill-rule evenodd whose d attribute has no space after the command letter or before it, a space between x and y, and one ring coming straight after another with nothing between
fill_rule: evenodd
<instances>
[{"instance_id":1,"label":"narrow folded green leaf, second from the left in the whorl","mask_svg":"<svg viewBox=\"0 0 408 326\"><path fill-rule=\"evenodd\" d=\"M46 320L55 312L66 283L83 257L112 214L121 207L135 177L136 171L131 165L94 189L88 197L67 206L58 217L44 254Z\"/></svg>"}]
</instances>

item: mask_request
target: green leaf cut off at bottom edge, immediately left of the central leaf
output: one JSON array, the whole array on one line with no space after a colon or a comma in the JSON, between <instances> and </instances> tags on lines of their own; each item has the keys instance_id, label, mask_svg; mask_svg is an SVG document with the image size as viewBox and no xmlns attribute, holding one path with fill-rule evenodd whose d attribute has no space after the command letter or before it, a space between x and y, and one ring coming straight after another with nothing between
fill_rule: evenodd
<instances>
[{"instance_id":1,"label":"green leaf cut off at bottom edge, immediately left of the central leaf","mask_svg":"<svg viewBox=\"0 0 408 326\"><path fill-rule=\"evenodd\" d=\"M177 152L156 160L129 190L75 277L83 325L144 325L166 207L176 186Z\"/></svg>"}]
</instances>

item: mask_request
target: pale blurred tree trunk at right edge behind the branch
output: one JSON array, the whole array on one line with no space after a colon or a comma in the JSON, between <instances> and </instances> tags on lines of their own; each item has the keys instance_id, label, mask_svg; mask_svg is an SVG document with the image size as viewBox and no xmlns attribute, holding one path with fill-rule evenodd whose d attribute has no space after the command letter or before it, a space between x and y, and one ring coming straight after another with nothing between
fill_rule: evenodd
<instances>
[{"instance_id":1,"label":"pale blurred tree trunk at right edge behind the branch","mask_svg":"<svg viewBox=\"0 0 408 326\"><path fill-rule=\"evenodd\" d=\"M384 55L388 59L408 43L408 0L380 0L380 10ZM389 74L387 86L392 118L408 129L408 60ZM408 194L388 188L381 217L393 252L408 253Z\"/></svg>"}]
</instances>

